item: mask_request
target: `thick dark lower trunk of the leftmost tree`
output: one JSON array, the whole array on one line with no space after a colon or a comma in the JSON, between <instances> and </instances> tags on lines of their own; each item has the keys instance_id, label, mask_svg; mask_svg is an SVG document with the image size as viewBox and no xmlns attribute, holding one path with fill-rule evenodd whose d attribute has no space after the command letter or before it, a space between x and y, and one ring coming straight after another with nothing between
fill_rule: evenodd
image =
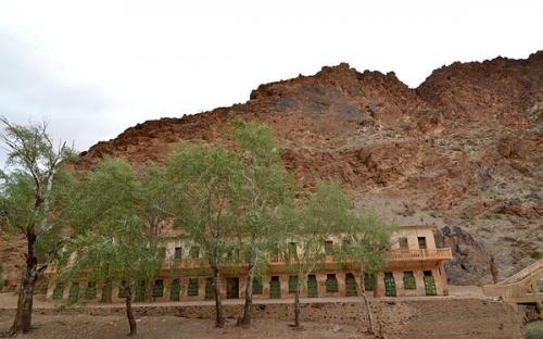
<instances>
[{"instance_id":1,"label":"thick dark lower trunk of the leftmost tree","mask_svg":"<svg viewBox=\"0 0 543 339\"><path fill-rule=\"evenodd\" d=\"M38 280L37 259L35 256L36 235L29 233L26 235L27 254L26 267L21 278L18 289L17 312L15 319L9 330L9 335L14 336L20 331L26 334L30 331L33 317L34 287Z\"/></svg>"}]
</instances>

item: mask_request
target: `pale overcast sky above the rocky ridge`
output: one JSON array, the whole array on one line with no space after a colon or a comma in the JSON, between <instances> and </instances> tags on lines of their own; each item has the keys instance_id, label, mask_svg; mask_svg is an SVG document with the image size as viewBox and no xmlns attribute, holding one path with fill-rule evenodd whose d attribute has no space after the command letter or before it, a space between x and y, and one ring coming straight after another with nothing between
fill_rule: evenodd
<instances>
[{"instance_id":1,"label":"pale overcast sky above the rocky ridge","mask_svg":"<svg viewBox=\"0 0 543 339\"><path fill-rule=\"evenodd\" d=\"M454 61L523 59L542 17L535 0L1 1L0 114L83 151L324 65L416 87Z\"/></svg>"}]
</instances>

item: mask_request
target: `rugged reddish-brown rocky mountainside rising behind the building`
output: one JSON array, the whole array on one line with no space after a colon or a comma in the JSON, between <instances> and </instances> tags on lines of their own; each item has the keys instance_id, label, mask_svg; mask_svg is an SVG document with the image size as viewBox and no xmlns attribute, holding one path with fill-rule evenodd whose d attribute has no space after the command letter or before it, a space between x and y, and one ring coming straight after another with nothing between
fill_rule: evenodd
<instances>
[{"instance_id":1,"label":"rugged reddish-brown rocky mountainside rising behind the building","mask_svg":"<svg viewBox=\"0 0 543 339\"><path fill-rule=\"evenodd\" d=\"M438 225L455 252L453 284L490 281L491 258L503 278L543 252L541 51L454 63L416 89L393 73L323 67L261 85L243 104L130 127L84 152L76 166L104 154L160 162L179 140L228 145L235 115L275 129L305 189L338 177L361 209Z\"/></svg>"}]
</instances>

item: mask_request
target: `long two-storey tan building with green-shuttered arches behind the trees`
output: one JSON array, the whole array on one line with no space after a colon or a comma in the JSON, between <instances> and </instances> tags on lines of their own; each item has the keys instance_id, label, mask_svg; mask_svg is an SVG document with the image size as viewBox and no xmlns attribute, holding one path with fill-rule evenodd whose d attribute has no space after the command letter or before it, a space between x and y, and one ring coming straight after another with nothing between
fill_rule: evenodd
<instances>
[{"instance_id":1,"label":"long two-storey tan building with green-shuttered arches behind the trees","mask_svg":"<svg viewBox=\"0 0 543 339\"><path fill-rule=\"evenodd\" d=\"M391 239L392 249L381 272L365 276L365 288L374 297L446 296L449 293L444 262L452 258L450 248L437 248L430 225L403 226ZM334 246L333 240L326 246ZM195 301L213 299L211 269L200 256L198 247L181 239L166 241L166 261L154 279L154 301ZM50 272L52 274L52 272ZM222 272L222 297L244 296L247 268L226 265ZM295 275L280 258L270 258L267 273L253 281L254 299L293 298ZM356 297L361 294L359 264L340 263L331 258L310 274L302 297ZM74 279L68 284L50 280L48 299L121 302L123 280L109 286ZM146 281L136 287L135 301L143 301Z\"/></svg>"}]
</instances>

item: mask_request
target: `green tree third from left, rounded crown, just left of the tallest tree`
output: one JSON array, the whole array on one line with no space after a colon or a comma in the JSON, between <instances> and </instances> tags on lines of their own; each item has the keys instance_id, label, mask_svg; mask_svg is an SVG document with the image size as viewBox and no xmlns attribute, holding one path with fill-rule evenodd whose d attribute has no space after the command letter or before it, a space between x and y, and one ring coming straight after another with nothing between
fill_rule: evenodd
<instances>
[{"instance_id":1,"label":"green tree third from left, rounded crown, just left of the tallest tree","mask_svg":"<svg viewBox=\"0 0 543 339\"><path fill-rule=\"evenodd\" d=\"M220 146L185 143L166 160L165 171L168 213L211 267L215 326L224 327L220 273L238 217L232 211L239 205L239 159Z\"/></svg>"}]
</instances>

